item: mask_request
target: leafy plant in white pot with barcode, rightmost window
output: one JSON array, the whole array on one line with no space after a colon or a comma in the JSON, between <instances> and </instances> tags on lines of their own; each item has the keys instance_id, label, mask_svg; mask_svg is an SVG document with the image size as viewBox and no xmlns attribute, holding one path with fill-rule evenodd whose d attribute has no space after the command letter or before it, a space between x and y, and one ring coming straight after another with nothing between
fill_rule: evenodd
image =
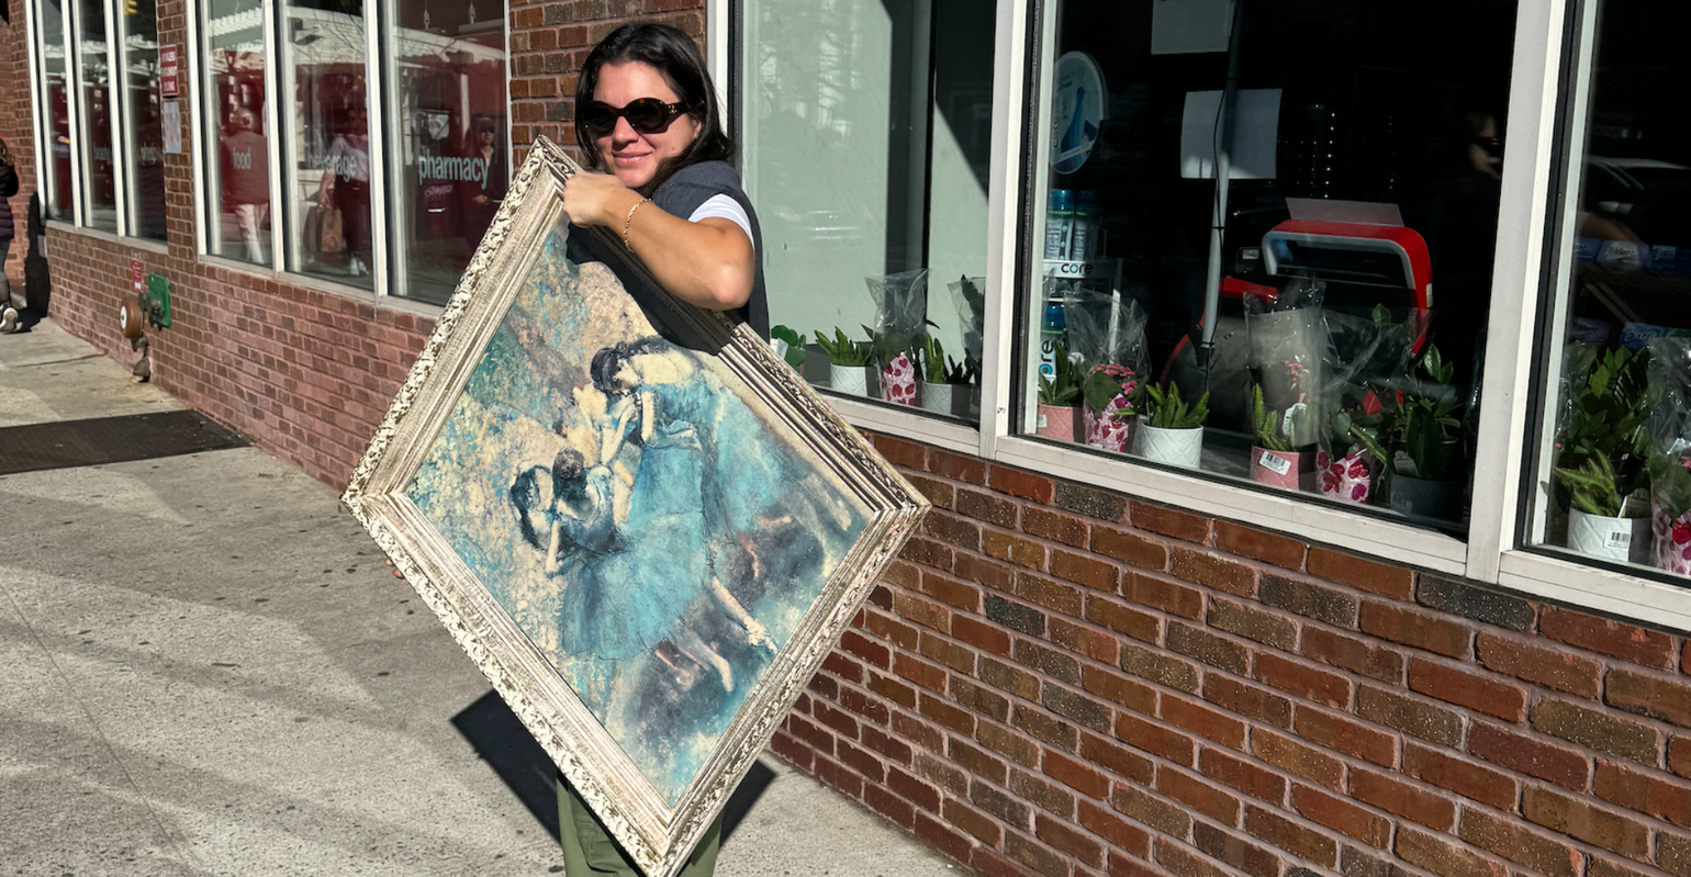
<instances>
[{"instance_id":1,"label":"leafy plant in white pot with barcode, rightmost window","mask_svg":"<svg viewBox=\"0 0 1691 877\"><path fill-rule=\"evenodd\" d=\"M1591 558L1649 563L1647 362L1627 348L1568 350L1573 399L1552 475L1568 490L1568 547Z\"/></svg>"}]
</instances>

